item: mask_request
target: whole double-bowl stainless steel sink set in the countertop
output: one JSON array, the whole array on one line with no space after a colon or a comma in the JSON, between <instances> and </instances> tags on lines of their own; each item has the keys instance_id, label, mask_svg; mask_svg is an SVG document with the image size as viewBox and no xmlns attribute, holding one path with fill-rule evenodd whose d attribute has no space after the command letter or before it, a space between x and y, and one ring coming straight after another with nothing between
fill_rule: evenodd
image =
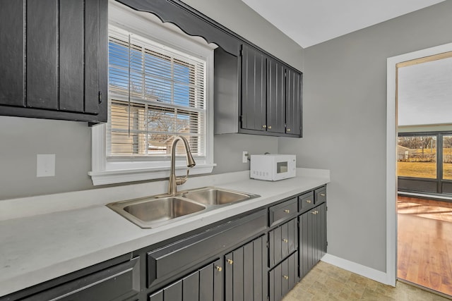
<instances>
[{"instance_id":1,"label":"whole double-bowl stainless steel sink set in the countertop","mask_svg":"<svg viewBox=\"0 0 452 301\"><path fill-rule=\"evenodd\" d=\"M254 197L260 195L206 187L181 191L176 196L156 195L114 202L107 204L107 207L141 228L155 228Z\"/></svg>"}]
</instances>

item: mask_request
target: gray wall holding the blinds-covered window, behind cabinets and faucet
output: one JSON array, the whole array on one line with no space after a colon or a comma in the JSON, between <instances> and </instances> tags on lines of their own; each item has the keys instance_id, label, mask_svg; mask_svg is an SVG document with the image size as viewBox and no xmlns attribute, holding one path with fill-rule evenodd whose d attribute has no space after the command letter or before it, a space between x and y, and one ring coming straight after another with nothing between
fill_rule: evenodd
<instances>
[{"instance_id":1,"label":"gray wall holding the blinds-covered window, behind cabinets and faucet","mask_svg":"<svg viewBox=\"0 0 452 301\"><path fill-rule=\"evenodd\" d=\"M302 69L303 49L240 0L186 1L295 68ZM0 199L93 188L91 132L86 123L0 116ZM242 151L276 152L278 138L218 135L214 138L214 173L242 171ZM36 178L36 155L56 154L56 175Z\"/></svg>"}]
</instances>

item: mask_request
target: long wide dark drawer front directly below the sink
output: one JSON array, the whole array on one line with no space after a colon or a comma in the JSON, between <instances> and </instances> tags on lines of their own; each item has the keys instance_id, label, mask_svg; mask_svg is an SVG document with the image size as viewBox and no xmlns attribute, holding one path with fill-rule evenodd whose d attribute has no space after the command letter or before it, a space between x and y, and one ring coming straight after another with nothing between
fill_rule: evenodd
<instances>
[{"instance_id":1,"label":"long wide dark drawer front directly below the sink","mask_svg":"<svg viewBox=\"0 0 452 301\"><path fill-rule=\"evenodd\" d=\"M148 287L196 269L209 257L266 229L266 210L148 252Z\"/></svg>"}]
</instances>

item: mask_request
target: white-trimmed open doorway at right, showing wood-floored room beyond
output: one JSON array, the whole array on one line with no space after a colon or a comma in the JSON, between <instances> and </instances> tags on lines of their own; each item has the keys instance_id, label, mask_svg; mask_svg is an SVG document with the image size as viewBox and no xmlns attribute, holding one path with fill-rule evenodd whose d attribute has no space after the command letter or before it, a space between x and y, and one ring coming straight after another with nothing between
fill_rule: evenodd
<instances>
[{"instance_id":1,"label":"white-trimmed open doorway at right, showing wood-floored room beyond","mask_svg":"<svg viewBox=\"0 0 452 301\"><path fill-rule=\"evenodd\" d=\"M417 51L391 58L396 135L388 128L387 136L388 141L396 138L397 178L391 187L397 200L392 207L396 211L396 278L452 295L452 202L446 200L452 199L452 52L426 50L432 54ZM390 59L388 75L389 70ZM388 84L389 80L388 76ZM388 161L388 176L390 168ZM391 200L387 199L388 205Z\"/></svg>"}]
</instances>

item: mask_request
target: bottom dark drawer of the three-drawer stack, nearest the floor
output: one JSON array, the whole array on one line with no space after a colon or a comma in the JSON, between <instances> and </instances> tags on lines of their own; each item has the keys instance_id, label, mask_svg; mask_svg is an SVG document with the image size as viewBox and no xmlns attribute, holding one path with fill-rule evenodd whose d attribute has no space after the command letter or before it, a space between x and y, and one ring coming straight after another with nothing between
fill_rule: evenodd
<instances>
[{"instance_id":1,"label":"bottom dark drawer of the three-drawer stack, nearest the floor","mask_svg":"<svg viewBox=\"0 0 452 301\"><path fill-rule=\"evenodd\" d=\"M295 252L269 272L270 301L282 300L299 281L297 257L298 252Z\"/></svg>"}]
</instances>

